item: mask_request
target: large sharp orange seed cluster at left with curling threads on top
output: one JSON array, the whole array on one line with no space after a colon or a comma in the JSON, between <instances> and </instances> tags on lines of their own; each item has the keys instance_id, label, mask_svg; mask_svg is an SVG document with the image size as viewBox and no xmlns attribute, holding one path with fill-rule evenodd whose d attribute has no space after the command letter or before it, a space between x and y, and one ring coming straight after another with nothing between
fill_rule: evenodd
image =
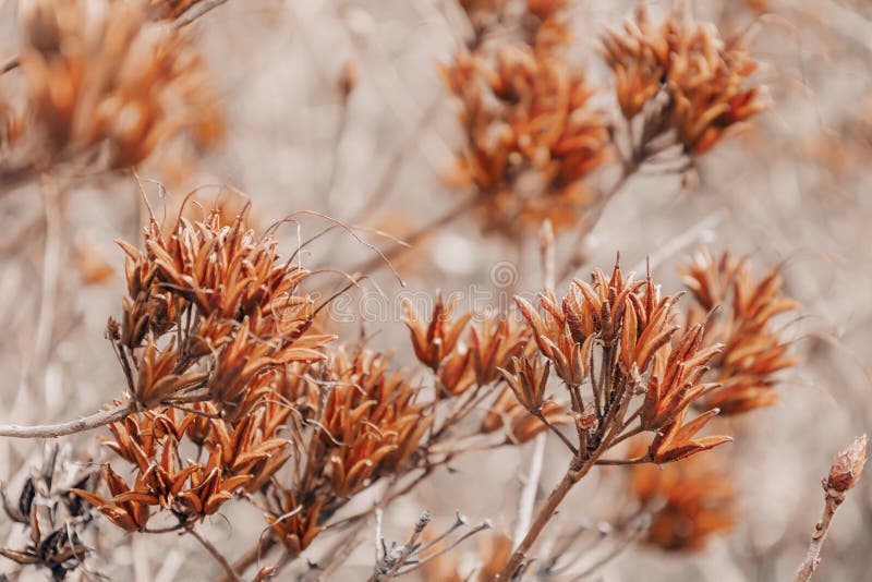
<instances>
[{"instance_id":1,"label":"large sharp orange seed cluster at left with curling threads on top","mask_svg":"<svg viewBox=\"0 0 872 582\"><path fill-rule=\"evenodd\" d=\"M259 374L323 357L332 337L308 332L314 302L298 293L306 271L243 223L221 226L216 210L165 234L152 218L144 251L119 242L129 298L113 341L142 405L206 390L240 413Z\"/></svg>"}]
</instances>

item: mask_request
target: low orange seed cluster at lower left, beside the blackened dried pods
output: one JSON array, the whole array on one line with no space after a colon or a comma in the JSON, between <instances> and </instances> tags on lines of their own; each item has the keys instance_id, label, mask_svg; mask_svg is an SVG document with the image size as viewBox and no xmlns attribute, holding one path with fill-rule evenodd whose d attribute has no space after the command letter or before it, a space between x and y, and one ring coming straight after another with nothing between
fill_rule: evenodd
<instances>
[{"instance_id":1,"label":"low orange seed cluster at lower left, beside the blackened dried pods","mask_svg":"<svg viewBox=\"0 0 872 582\"><path fill-rule=\"evenodd\" d=\"M290 409L261 401L235 426L214 417L215 410L208 404L192 412L155 409L114 423L107 446L134 463L133 485L105 464L111 497L76 494L117 526L141 531L153 507L170 510L186 525L215 513L238 489L259 489L289 458L289 441L277 432ZM205 463L181 461L180 445L189 431L208 451Z\"/></svg>"}]
</instances>

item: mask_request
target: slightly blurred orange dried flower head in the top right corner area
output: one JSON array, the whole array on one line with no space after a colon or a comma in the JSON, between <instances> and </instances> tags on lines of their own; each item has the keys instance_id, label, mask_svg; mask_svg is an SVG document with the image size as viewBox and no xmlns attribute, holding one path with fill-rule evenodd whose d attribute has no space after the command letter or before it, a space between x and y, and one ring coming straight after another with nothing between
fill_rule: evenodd
<instances>
[{"instance_id":1,"label":"slightly blurred orange dried flower head in the top right corner area","mask_svg":"<svg viewBox=\"0 0 872 582\"><path fill-rule=\"evenodd\" d=\"M711 23L673 12L655 26L640 7L623 31L608 32L604 48L623 116L632 119L663 95L655 117L689 154L704 154L727 129L767 106L761 90L748 86L756 70L753 58L725 43Z\"/></svg>"}]
</instances>

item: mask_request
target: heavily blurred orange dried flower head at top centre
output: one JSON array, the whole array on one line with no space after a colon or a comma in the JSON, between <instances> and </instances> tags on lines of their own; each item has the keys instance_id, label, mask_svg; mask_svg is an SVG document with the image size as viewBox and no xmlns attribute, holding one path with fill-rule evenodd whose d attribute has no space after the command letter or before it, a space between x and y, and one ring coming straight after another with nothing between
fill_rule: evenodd
<instances>
[{"instance_id":1,"label":"heavily blurred orange dried flower head at top centre","mask_svg":"<svg viewBox=\"0 0 872 582\"><path fill-rule=\"evenodd\" d=\"M487 229L511 235L550 219L574 223L592 202L584 183L610 155L607 122L581 71L526 45L457 53L441 69L467 144L452 182L482 197Z\"/></svg>"}]
</instances>

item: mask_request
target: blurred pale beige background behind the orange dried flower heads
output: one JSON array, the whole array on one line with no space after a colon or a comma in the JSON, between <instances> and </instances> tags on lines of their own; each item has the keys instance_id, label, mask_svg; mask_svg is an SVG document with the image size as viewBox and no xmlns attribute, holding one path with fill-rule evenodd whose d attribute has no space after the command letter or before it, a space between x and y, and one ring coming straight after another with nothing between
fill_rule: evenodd
<instances>
[{"instance_id":1,"label":"blurred pale beige background behind the orange dried flower heads","mask_svg":"<svg viewBox=\"0 0 872 582\"><path fill-rule=\"evenodd\" d=\"M654 14L671 5L645 3ZM570 58L592 83L608 86L600 41L634 5L581 0L569 11ZM784 263L785 292L801 308L782 324L802 364L782 378L777 405L722 421L735 442L712 454L735 480L731 531L695 551L611 539L606 524L614 528L629 511L619 468L573 490L554 528L586 524L584 543L595 546L582 558L589 565L616 550L595 573L602 580L789 580L819 518L820 481L833 454L872 423L872 8L859 0L706 0L691 8L725 37L743 37L773 106L702 158L692 179L634 177L584 241L577 274L610 268L619 251L626 269L643 270L650 257L671 292L679 288L676 267L702 244L747 254L756 272ZM223 116L218 146L190 159L153 159L137 170L138 182L130 173L101 175L72 181L56 197L27 183L0 197L0 422L71 419L121 393L104 328L124 290L122 252L112 241L140 240L141 189L158 215L205 185L201 201L220 195L241 206L250 198L258 228L314 210L400 239L455 207L462 195L445 178L462 134L436 63L448 62L467 38L462 17L452 0L230 0L192 24ZM15 54L17 28L16 3L0 0L0 56ZM0 86L21 82L10 76ZM614 108L608 89L594 100ZM314 214L294 216L278 230L289 250L327 225ZM383 248L392 244L372 230L360 235ZM571 235L558 238L558 256L576 253L572 244ZM339 229L303 260L350 271L373 256ZM501 262L512 266L508 282L495 280ZM386 268L364 287L388 298L472 286L508 295L536 290L541 280L535 240L483 234L473 216L416 241L392 263L404 288ZM341 275L318 277L324 292L343 284ZM362 293L352 290L352 301ZM385 314L336 326L411 361L401 314ZM99 454L94 435L62 447L72 445ZM40 452L38 442L0 439L0 476L12 490ZM386 536L405 539L423 509L438 524L460 510L510 534L530 456L526 446L458 459L451 472L439 471L386 511ZM559 480L564 457L549 441L541 495ZM208 524L210 537L233 555L233 531L259 528L258 519L232 508ZM9 531L0 518L0 542ZM204 568L211 565L189 557L198 549L187 539L170 542L120 537L99 548L98 569L121 580L208 578ZM871 544L865 478L835 520L819 579L868 579ZM463 551L480 546L471 541ZM316 543L312 559L318 551ZM336 579L368 577L374 551L367 532Z\"/></svg>"}]
</instances>

